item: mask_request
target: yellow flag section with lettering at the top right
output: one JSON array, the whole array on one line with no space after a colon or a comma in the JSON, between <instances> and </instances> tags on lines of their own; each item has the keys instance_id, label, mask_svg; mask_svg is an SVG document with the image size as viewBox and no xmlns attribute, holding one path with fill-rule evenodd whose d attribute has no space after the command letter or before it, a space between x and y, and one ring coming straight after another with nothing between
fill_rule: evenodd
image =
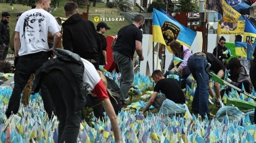
<instances>
[{"instance_id":1,"label":"yellow flag section with lettering at the top right","mask_svg":"<svg viewBox=\"0 0 256 143\"><path fill-rule=\"evenodd\" d=\"M231 21L233 23L237 23L237 20L239 17L241 17L241 14L238 13L236 10L234 10L230 5L227 4L225 0L222 0L223 2L223 21Z\"/></svg>"}]
</instances>

